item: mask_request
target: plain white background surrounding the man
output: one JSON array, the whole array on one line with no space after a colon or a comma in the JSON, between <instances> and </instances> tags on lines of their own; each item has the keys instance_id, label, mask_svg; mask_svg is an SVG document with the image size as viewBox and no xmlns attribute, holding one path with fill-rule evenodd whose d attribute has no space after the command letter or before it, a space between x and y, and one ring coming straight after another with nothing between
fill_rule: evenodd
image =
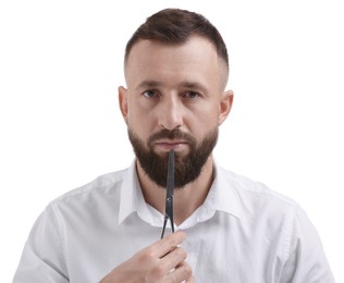
<instances>
[{"instance_id":1,"label":"plain white background surrounding the man","mask_svg":"<svg viewBox=\"0 0 344 283\"><path fill-rule=\"evenodd\" d=\"M216 158L297 200L343 271L341 1L1 1L0 281L45 206L133 158L118 109L124 46L151 13L206 15L231 61Z\"/></svg>"}]
</instances>

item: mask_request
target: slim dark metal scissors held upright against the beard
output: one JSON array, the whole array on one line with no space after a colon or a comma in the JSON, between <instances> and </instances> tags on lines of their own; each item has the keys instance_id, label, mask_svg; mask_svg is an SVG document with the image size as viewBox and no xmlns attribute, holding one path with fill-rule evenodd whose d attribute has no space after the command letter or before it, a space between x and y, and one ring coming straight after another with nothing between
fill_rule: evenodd
<instances>
[{"instance_id":1,"label":"slim dark metal scissors held upright against the beard","mask_svg":"<svg viewBox=\"0 0 344 283\"><path fill-rule=\"evenodd\" d=\"M174 233L174 221L173 221L173 193L174 193L174 150L171 149L169 152L168 163L168 180L167 180L167 198L164 208L164 220L161 238L163 238L164 230L170 219L172 233Z\"/></svg>"}]
</instances>

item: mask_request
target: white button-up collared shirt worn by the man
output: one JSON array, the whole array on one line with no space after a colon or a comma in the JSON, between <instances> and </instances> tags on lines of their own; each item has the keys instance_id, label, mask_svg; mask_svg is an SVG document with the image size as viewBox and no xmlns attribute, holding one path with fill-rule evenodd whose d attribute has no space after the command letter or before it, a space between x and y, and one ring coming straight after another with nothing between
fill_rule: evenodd
<instances>
[{"instance_id":1,"label":"white button-up collared shirt worn by the man","mask_svg":"<svg viewBox=\"0 0 344 283\"><path fill-rule=\"evenodd\" d=\"M13 282L99 282L158 241L162 223L163 216L144 200L134 163L102 175L47 206ZM176 229L187 234L182 246L196 282L334 282L299 206L219 167L204 205Z\"/></svg>"}]
</instances>

